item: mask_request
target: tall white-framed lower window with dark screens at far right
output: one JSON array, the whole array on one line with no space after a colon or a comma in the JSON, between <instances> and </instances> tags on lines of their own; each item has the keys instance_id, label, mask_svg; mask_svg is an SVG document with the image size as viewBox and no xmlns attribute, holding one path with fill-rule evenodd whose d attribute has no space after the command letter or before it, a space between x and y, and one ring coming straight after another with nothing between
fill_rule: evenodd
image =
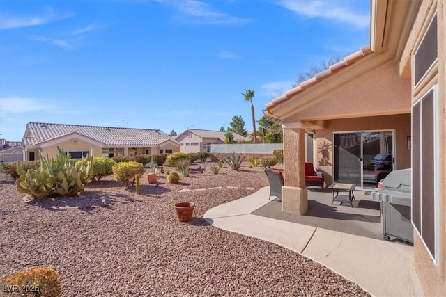
<instances>
[{"instance_id":1,"label":"tall white-framed lower window with dark screens at far right","mask_svg":"<svg viewBox=\"0 0 446 297\"><path fill-rule=\"evenodd\" d=\"M438 88L412 107L412 223L438 265ZM437 149L436 149L437 148Z\"/></svg>"}]
</instances>

